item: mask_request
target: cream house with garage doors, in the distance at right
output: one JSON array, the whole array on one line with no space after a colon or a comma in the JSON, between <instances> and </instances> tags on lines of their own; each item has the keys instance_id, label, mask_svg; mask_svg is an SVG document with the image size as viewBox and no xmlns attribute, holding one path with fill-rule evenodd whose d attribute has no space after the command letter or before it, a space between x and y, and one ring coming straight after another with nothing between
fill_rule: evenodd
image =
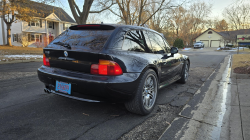
<instances>
[{"instance_id":1,"label":"cream house with garage doors, in the distance at right","mask_svg":"<svg viewBox=\"0 0 250 140\"><path fill-rule=\"evenodd\" d=\"M194 40L195 42L202 41L205 44L205 47L219 47L225 46L228 43L237 44L236 36L242 34L250 34L250 29L219 32L215 29L209 28Z\"/></svg>"}]
</instances>

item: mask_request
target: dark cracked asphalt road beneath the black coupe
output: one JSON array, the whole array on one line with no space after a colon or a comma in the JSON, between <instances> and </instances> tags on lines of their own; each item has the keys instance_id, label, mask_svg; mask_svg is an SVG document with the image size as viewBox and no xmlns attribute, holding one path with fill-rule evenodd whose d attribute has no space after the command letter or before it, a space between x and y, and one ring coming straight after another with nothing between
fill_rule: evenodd
<instances>
[{"instance_id":1,"label":"dark cracked asphalt road beneath the black coupe","mask_svg":"<svg viewBox=\"0 0 250 140\"><path fill-rule=\"evenodd\" d=\"M148 116L131 114L122 104L88 103L44 93L35 74L41 62L0 65L0 77L5 75L0 79L0 139L158 139L229 55L211 49L181 53L191 60L188 84L161 89L158 106Z\"/></svg>"}]
</instances>

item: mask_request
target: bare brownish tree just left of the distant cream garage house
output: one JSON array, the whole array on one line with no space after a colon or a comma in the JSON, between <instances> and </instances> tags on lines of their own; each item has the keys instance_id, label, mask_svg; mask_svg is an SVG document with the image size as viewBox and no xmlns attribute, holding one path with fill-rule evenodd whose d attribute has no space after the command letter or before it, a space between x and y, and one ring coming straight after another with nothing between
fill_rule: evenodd
<instances>
[{"instance_id":1,"label":"bare brownish tree just left of the distant cream garage house","mask_svg":"<svg viewBox=\"0 0 250 140\"><path fill-rule=\"evenodd\" d=\"M182 38L186 45L192 45L193 38L205 29L211 7L204 2L196 2L189 7L172 9L168 13L169 22L172 23L170 30L175 37Z\"/></svg>"}]
</instances>

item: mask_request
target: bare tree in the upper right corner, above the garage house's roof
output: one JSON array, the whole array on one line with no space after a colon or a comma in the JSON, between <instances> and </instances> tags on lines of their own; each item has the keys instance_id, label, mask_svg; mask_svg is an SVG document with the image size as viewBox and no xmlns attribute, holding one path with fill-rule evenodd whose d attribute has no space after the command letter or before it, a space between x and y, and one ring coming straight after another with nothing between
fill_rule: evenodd
<instances>
[{"instance_id":1,"label":"bare tree in the upper right corner, above the garage house's roof","mask_svg":"<svg viewBox=\"0 0 250 140\"><path fill-rule=\"evenodd\" d=\"M250 24L250 4L236 4L226 7L223 16L228 19L233 30L247 29Z\"/></svg>"}]
</instances>

